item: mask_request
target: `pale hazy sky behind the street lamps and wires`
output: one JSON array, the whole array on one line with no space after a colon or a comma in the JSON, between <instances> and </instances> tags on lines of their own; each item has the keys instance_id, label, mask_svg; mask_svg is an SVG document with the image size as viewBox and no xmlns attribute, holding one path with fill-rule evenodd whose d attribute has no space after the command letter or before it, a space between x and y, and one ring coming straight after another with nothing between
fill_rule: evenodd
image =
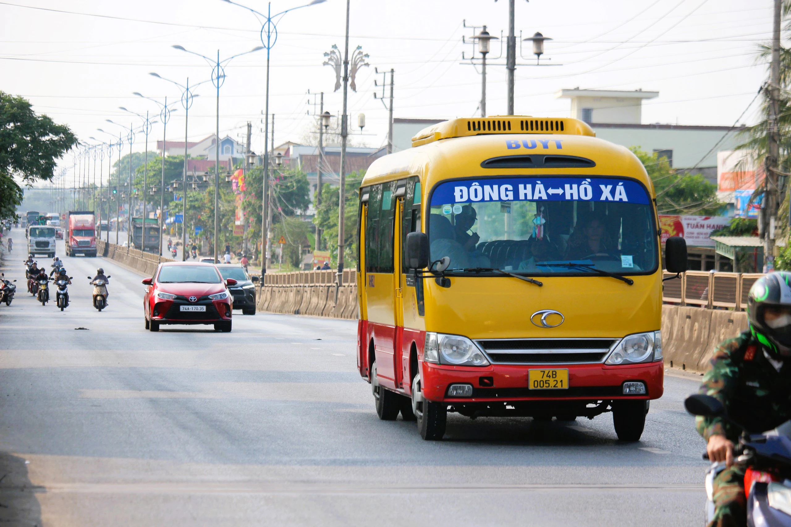
<instances>
[{"instance_id":1,"label":"pale hazy sky behind the street lamps and wires","mask_svg":"<svg viewBox=\"0 0 791 527\"><path fill-rule=\"evenodd\" d=\"M245 3L245 2L241 2ZM305 0L272 2L273 12ZM266 2L247 0L258 10ZM766 76L755 57L770 36L770 0L517 0L517 34L540 31L553 38L546 57L562 66L518 66L516 113L568 115L570 101L555 99L560 88L642 88L660 92L643 104L643 122L731 125L753 100ZM308 89L325 93L325 109L341 109L341 91L332 93L334 72L322 66L324 51L343 52L345 0L286 13L271 56L271 113L275 142L298 141L310 126ZM41 9L31 9L41 8ZM360 45L370 67L358 74L350 92L350 119L365 113L364 134L355 141L384 144L387 111L373 99L374 73L395 69L395 117L452 118L474 115L480 77L461 64L471 46L463 27L486 24L493 36L507 30L507 0L351 0L350 49ZM50 10L46 10L50 9ZM69 12L69 13L66 13ZM92 16L94 15L94 16ZM95 16L100 15L100 16ZM118 109L158 114L153 103L132 95L168 100L179 93L149 76L191 83L210 77L201 58L172 49L180 44L221 58L260 45L260 24L248 11L221 0L9 0L0 2L0 90L25 96L36 111L71 126L78 136L107 138L97 128L119 128L105 119L133 122ZM524 45L526 60L530 43ZM491 56L499 55L493 43ZM492 58L490 56L490 59ZM490 62L505 62L503 58ZM266 51L235 59L221 88L221 135L244 133L253 122L253 149L263 149ZM505 67L488 70L487 113L505 113ZM191 110L191 140L214 132L216 99L210 83L199 88ZM753 108L757 105L754 104ZM183 110L174 113L168 139L183 140ZM755 119L750 111L743 119ZM150 141L161 138L154 127ZM143 137L135 149L142 150ZM64 164L71 164L64 160Z\"/></svg>"}]
</instances>

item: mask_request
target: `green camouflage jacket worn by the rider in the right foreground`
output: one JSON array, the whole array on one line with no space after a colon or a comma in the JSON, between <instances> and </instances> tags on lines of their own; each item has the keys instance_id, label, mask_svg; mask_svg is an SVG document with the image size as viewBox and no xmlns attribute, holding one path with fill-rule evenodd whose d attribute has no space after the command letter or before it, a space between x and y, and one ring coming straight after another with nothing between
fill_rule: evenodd
<instances>
[{"instance_id":1,"label":"green camouflage jacket worn by the rider in the right foreground","mask_svg":"<svg viewBox=\"0 0 791 527\"><path fill-rule=\"evenodd\" d=\"M728 416L747 431L771 430L791 419L791 359L785 359L778 371L747 330L717 346L698 393L717 397ZM718 417L698 416L695 423L706 441L711 435L739 439L740 431Z\"/></svg>"}]
</instances>

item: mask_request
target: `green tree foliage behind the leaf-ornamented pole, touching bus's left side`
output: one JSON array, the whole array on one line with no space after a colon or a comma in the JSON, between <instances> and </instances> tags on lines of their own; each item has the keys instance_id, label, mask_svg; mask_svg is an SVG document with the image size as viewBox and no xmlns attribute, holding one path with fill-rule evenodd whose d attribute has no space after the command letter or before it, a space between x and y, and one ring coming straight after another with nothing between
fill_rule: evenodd
<instances>
[{"instance_id":1,"label":"green tree foliage behind the leaf-ornamented pole, touching bus's left side","mask_svg":"<svg viewBox=\"0 0 791 527\"><path fill-rule=\"evenodd\" d=\"M365 172L352 172L346 176L346 201L343 214L344 267L357 265L358 218L360 206L360 183ZM321 206L316 211L313 223L322 230L324 247L330 251L332 265L338 263L338 198L339 188L324 185L321 190Z\"/></svg>"}]
</instances>

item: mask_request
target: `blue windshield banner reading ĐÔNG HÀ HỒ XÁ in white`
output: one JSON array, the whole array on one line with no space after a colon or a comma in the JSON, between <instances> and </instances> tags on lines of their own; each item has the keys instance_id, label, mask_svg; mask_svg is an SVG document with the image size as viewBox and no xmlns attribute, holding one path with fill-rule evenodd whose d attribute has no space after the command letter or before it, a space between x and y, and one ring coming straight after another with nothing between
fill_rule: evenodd
<instances>
[{"instance_id":1,"label":"blue windshield banner reading \u0110\u00d4NG H\u00c0 H\u1ed2 X\u00c1 in white","mask_svg":"<svg viewBox=\"0 0 791 527\"><path fill-rule=\"evenodd\" d=\"M612 201L647 205L649 197L640 183L630 179L542 177L449 181L437 186L431 196L431 205L478 201Z\"/></svg>"}]
</instances>

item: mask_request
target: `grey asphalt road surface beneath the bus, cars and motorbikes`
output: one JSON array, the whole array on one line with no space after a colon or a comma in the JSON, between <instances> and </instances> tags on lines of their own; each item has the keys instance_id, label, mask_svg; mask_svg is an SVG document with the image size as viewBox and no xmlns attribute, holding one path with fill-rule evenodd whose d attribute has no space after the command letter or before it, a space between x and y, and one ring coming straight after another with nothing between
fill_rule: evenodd
<instances>
[{"instance_id":1,"label":"grey asphalt road surface beneath the bus, cars and motorbikes","mask_svg":"<svg viewBox=\"0 0 791 527\"><path fill-rule=\"evenodd\" d=\"M424 442L377 419L354 321L234 314L232 333L149 333L138 273L66 258L60 312L24 292L24 256L6 258L20 292L0 307L9 525L703 523L704 443L682 407L694 377L665 377L638 443L607 414L451 415L446 439ZM101 313L86 278L98 265L112 276Z\"/></svg>"}]
</instances>

